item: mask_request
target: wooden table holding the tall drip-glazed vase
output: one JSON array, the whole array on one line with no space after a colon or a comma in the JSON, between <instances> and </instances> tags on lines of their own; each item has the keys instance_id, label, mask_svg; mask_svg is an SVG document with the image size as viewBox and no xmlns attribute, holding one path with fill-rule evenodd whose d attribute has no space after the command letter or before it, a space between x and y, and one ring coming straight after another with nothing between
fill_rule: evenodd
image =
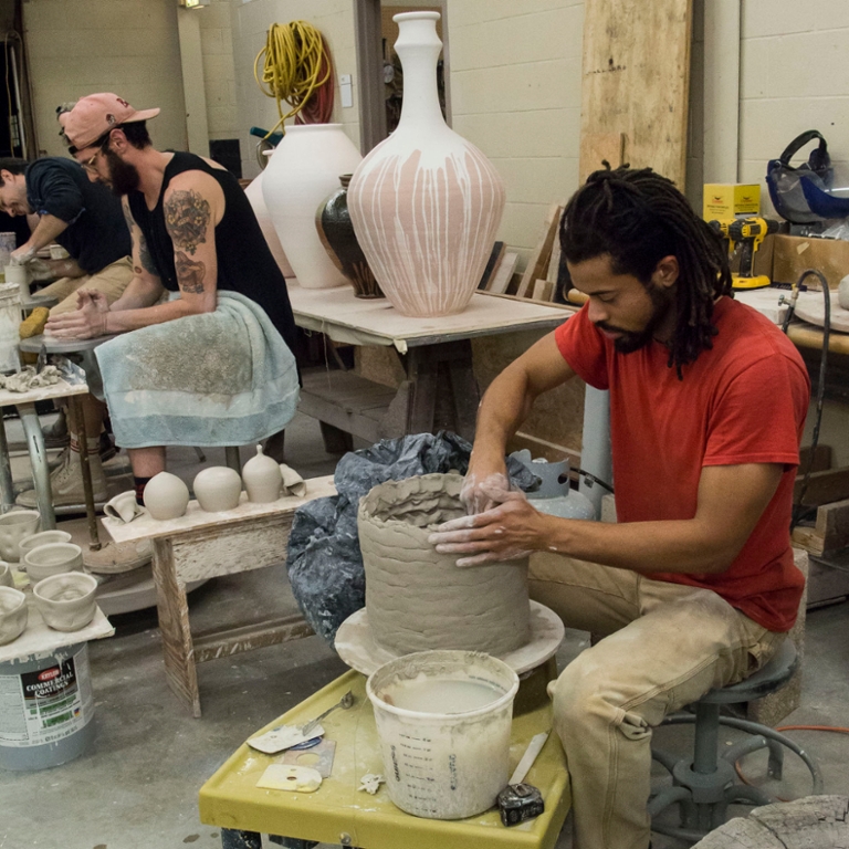
<instances>
[{"instance_id":1,"label":"wooden table holding the tall drip-glazed vase","mask_svg":"<svg viewBox=\"0 0 849 849\"><path fill-rule=\"evenodd\" d=\"M304 376L298 409L369 442L442 428L471 439L480 402L471 339L554 329L575 312L570 306L479 292L462 313L413 318L401 315L386 298L358 298L347 286L290 285L289 296L300 327L343 344L394 347L401 355L406 378L397 390L345 371Z\"/></svg>"}]
</instances>

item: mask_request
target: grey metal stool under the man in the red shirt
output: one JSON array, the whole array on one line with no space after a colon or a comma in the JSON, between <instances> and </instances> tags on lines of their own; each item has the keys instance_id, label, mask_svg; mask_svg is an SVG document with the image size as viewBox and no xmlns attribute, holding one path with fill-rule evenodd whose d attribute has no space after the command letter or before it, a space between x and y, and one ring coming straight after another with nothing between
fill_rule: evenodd
<instances>
[{"instance_id":1,"label":"grey metal stool under the man in the red shirt","mask_svg":"<svg viewBox=\"0 0 849 849\"><path fill-rule=\"evenodd\" d=\"M822 777L819 767L792 740L757 722L720 716L723 704L740 704L762 699L779 690L789 681L798 665L796 647L785 639L773 659L763 669L745 681L719 690L711 690L695 703L695 714L675 713L667 716L662 725L695 725L695 747L692 758L678 759L668 752L652 750L651 756L672 775L673 784L656 794L649 801L653 831L677 837L681 840L701 840L709 831L725 822L729 805L744 803L769 805L773 803L756 787L735 782L735 762L751 752L769 750L767 772L771 778L780 779L786 746L795 752L810 771L814 778L813 793L822 793ZM731 746L719 755L720 725L740 729L752 736ZM681 811L679 826L658 822L658 816L671 805Z\"/></svg>"}]
</instances>

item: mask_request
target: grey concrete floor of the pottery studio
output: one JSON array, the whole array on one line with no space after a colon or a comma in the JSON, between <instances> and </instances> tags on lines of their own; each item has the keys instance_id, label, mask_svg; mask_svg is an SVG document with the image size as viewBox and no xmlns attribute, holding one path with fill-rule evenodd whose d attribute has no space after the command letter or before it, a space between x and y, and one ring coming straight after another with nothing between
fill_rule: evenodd
<instances>
[{"instance_id":1,"label":"grey concrete floor of the pottery studio","mask_svg":"<svg viewBox=\"0 0 849 849\"><path fill-rule=\"evenodd\" d=\"M208 453L209 463L223 461L217 452ZM335 467L335 458L323 450L317 423L302 417L286 430L286 455L305 478L332 473ZM171 469L190 480L197 470L193 452L175 451ZM297 609L282 566L209 581L190 601L197 630ZM803 704L786 723L849 725L848 618L846 604L809 612ZM60 767L0 769L0 849L219 847L218 829L198 819L199 787L252 732L346 670L318 637L203 663L198 667L203 717L193 720L165 683L156 611L116 616L113 623L115 637L90 647L96 742ZM587 644L586 633L568 631L558 653L560 668ZM847 794L849 737L822 732L793 736L819 762L826 793ZM722 733L723 743L733 738L736 733ZM684 729L660 729L656 741L689 751ZM746 758L744 768L762 783L761 755ZM783 785L767 787L784 798L804 796L809 778L790 757ZM557 849L572 847L568 826L567 820ZM654 836L653 845L684 846L661 836Z\"/></svg>"}]
</instances>

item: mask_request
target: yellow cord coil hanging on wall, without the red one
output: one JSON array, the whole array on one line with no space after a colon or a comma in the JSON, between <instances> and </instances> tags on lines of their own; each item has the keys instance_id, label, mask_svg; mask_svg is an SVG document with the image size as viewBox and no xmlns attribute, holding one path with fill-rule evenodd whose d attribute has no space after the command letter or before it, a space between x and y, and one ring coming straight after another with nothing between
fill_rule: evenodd
<instances>
[{"instance_id":1,"label":"yellow cord coil hanging on wall, without the red one","mask_svg":"<svg viewBox=\"0 0 849 849\"><path fill-rule=\"evenodd\" d=\"M264 94L277 102L280 120L269 130L269 136L277 127L285 133L283 123L286 118L297 115L313 92L327 82L333 66L329 61L326 62L325 73L319 78L323 54L322 33L306 21L271 25L265 46L256 54L253 63L256 84ZM260 78L259 66L263 56ZM292 109L283 114L281 101L290 104Z\"/></svg>"}]
</instances>

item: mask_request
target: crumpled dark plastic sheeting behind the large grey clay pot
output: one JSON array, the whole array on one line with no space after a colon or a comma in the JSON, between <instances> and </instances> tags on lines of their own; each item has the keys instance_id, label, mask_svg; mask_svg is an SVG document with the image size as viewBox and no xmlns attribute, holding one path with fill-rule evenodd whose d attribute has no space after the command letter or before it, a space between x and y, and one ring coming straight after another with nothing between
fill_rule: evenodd
<instances>
[{"instance_id":1,"label":"crumpled dark plastic sheeting behind the large grey clay pot","mask_svg":"<svg viewBox=\"0 0 849 849\"><path fill-rule=\"evenodd\" d=\"M286 569L292 593L310 627L333 644L337 628L366 604L357 509L373 486L451 470L465 474L472 447L455 433L416 433L384 439L345 454L336 467L337 495L315 499L295 512ZM511 484L528 490L536 478L506 458Z\"/></svg>"}]
</instances>

